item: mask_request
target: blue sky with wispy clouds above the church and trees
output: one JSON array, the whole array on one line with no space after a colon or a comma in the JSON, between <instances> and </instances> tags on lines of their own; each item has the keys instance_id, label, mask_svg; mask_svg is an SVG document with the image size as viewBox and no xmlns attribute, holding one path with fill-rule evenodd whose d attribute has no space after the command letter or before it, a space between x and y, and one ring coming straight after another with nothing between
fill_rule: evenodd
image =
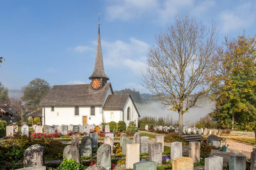
<instances>
[{"instance_id":1,"label":"blue sky with wispy clouds above the church and trees","mask_svg":"<svg viewBox=\"0 0 256 170\"><path fill-rule=\"evenodd\" d=\"M114 90L147 92L141 82L154 37L189 12L218 39L255 35L255 1L0 1L0 81L20 89L34 78L51 85L88 83L100 16L104 67Z\"/></svg>"}]
</instances>

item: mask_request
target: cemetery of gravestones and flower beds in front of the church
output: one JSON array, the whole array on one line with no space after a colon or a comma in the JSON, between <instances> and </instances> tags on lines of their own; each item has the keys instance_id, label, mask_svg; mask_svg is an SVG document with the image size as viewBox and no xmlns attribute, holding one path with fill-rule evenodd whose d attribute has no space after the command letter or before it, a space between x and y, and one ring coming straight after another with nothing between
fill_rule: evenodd
<instances>
[{"instance_id":1,"label":"cemetery of gravestones and flower beds in front of the church","mask_svg":"<svg viewBox=\"0 0 256 170\"><path fill-rule=\"evenodd\" d=\"M161 125L8 125L0 169L255 169L256 150L232 155L220 131L183 129L186 138Z\"/></svg>"}]
</instances>

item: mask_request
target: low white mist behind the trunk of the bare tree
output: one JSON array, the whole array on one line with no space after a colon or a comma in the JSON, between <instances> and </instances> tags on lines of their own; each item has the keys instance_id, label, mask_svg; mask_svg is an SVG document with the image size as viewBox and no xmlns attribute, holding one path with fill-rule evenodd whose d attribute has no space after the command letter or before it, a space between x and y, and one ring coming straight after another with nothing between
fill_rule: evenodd
<instances>
[{"instance_id":1,"label":"low white mist behind the trunk of the bare tree","mask_svg":"<svg viewBox=\"0 0 256 170\"><path fill-rule=\"evenodd\" d=\"M184 125L190 125L197 122L201 117L211 113L215 106L210 99L203 98L197 103L199 107L191 108L188 113L183 115ZM170 106L163 106L160 101L150 101L148 103L136 103L141 117L169 117L173 120L179 120L177 111L169 110Z\"/></svg>"}]
</instances>

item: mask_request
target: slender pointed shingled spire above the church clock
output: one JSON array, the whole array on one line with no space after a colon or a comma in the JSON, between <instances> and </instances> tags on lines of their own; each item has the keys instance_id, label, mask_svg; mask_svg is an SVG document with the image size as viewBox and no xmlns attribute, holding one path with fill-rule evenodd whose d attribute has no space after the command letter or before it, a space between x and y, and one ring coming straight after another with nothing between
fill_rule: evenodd
<instances>
[{"instance_id":1,"label":"slender pointed shingled spire above the church clock","mask_svg":"<svg viewBox=\"0 0 256 170\"><path fill-rule=\"evenodd\" d=\"M101 44L100 44L100 23L99 23L99 31L98 31L98 43L97 43L95 65L94 65L92 76L90 76L89 79L92 79L92 78L104 78L105 80L109 80L109 78L106 76L104 72L104 65L103 65L102 51L101 51Z\"/></svg>"}]
</instances>

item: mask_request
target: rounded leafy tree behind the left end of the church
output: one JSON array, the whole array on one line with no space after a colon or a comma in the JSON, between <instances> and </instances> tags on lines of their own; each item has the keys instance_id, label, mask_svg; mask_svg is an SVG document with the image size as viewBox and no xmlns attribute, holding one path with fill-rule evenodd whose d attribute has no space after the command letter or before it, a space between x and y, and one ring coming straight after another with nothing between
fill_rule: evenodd
<instances>
[{"instance_id":1,"label":"rounded leafy tree behind the left end of the church","mask_svg":"<svg viewBox=\"0 0 256 170\"><path fill-rule=\"evenodd\" d=\"M51 90L50 84L43 79L35 78L30 81L25 87L24 94L21 97L21 100L25 103L26 110L29 112L38 110L40 101L49 90Z\"/></svg>"}]
</instances>

